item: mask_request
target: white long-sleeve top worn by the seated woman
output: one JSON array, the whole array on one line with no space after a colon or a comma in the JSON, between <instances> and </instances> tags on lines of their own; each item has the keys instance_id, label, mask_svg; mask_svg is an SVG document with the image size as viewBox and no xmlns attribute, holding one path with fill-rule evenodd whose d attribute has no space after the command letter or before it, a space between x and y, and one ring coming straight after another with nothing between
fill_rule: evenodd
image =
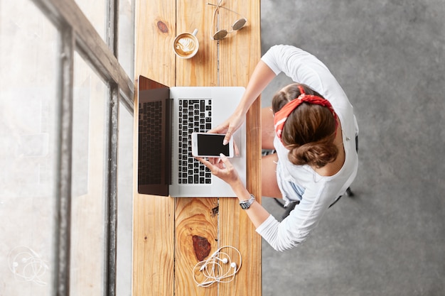
<instances>
[{"instance_id":1,"label":"white long-sleeve top worn by the seated woman","mask_svg":"<svg viewBox=\"0 0 445 296\"><path fill-rule=\"evenodd\" d=\"M326 65L304 50L291 45L275 45L262 57L278 75L284 72L294 82L306 84L331 102L341 121L345 163L333 176L318 175L309 165L294 165L287 155L289 150L275 136L274 147L279 158L277 178L294 182L304 188L301 202L281 223L269 216L260 226L260 234L275 250L285 251L304 241L316 227L326 209L353 182L358 168L355 136L358 126L345 92ZM291 197L289 197L291 198Z\"/></svg>"}]
</instances>

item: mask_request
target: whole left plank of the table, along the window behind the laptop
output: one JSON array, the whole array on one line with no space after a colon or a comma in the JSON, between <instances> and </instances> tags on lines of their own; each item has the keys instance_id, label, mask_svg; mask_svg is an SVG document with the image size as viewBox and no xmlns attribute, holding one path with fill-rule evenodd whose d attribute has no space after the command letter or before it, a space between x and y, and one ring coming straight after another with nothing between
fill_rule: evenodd
<instances>
[{"instance_id":1,"label":"whole left plank of the table, along the window behind the laptop","mask_svg":"<svg viewBox=\"0 0 445 296\"><path fill-rule=\"evenodd\" d=\"M175 60L171 50L175 28L175 0L136 1L135 81L139 75L171 86L175 82ZM171 52L171 51L170 51ZM137 87L135 91L137 98ZM134 100L134 114L138 114ZM137 126L134 116L134 126ZM137 128L134 128L137 143ZM137 145L134 145L137 163ZM137 167L134 165L134 176ZM133 295L173 295L174 207L171 197L137 193L134 178Z\"/></svg>"}]
</instances>

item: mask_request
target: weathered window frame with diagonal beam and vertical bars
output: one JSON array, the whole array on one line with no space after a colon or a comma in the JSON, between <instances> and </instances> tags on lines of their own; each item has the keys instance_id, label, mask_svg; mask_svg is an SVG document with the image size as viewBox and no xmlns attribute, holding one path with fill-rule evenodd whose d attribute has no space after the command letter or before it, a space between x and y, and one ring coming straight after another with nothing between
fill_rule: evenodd
<instances>
[{"instance_id":1,"label":"weathered window frame with diagonal beam and vertical bars","mask_svg":"<svg viewBox=\"0 0 445 296\"><path fill-rule=\"evenodd\" d=\"M107 250L104 293L116 295L117 282L117 155L119 137L119 105L134 114L134 83L117 60L119 0L107 0L107 43L100 37L74 0L32 0L58 28L60 60L58 65L58 171L55 197L55 276L57 295L70 294L70 225L73 136L73 72L74 53L92 67L109 87L107 102Z\"/></svg>"}]
</instances>

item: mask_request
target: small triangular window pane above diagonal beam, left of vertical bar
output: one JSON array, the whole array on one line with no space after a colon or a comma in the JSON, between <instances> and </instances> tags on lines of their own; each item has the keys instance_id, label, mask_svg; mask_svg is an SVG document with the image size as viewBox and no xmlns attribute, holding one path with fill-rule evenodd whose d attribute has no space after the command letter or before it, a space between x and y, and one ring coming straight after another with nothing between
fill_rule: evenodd
<instances>
[{"instance_id":1,"label":"small triangular window pane above diagonal beam, left of vertical bar","mask_svg":"<svg viewBox=\"0 0 445 296\"><path fill-rule=\"evenodd\" d=\"M107 0L75 0L75 3L95 27L106 43L107 36Z\"/></svg>"}]
</instances>

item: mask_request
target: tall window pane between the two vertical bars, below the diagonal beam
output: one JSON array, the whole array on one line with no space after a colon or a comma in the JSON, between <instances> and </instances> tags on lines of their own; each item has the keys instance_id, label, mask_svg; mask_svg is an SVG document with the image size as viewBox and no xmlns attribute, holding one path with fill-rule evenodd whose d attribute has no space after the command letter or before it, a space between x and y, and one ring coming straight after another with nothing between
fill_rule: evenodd
<instances>
[{"instance_id":1,"label":"tall window pane between the two vertical bars, below the diagonal beam","mask_svg":"<svg viewBox=\"0 0 445 296\"><path fill-rule=\"evenodd\" d=\"M107 85L75 53L70 295L104 295Z\"/></svg>"}]
</instances>

